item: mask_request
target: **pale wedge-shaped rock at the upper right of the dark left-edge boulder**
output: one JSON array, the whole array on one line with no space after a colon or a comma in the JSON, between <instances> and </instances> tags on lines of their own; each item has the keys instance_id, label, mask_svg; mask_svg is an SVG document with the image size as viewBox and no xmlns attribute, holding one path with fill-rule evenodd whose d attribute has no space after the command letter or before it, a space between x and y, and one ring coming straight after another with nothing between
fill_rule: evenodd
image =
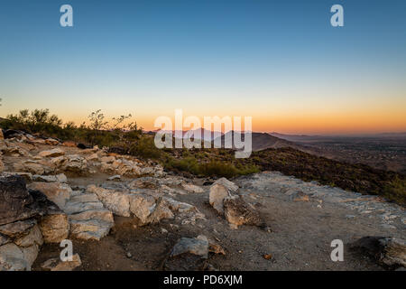
<instances>
[{"instance_id":1,"label":"pale wedge-shaped rock at the upper right of the dark left-edge boulder","mask_svg":"<svg viewBox=\"0 0 406 289\"><path fill-rule=\"evenodd\" d=\"M42 191L49 200L64 209L67 200L69 200L72 189L66 183L60 182L32 182L28 188L35 191Z\"/></svg>"}]
</instances>

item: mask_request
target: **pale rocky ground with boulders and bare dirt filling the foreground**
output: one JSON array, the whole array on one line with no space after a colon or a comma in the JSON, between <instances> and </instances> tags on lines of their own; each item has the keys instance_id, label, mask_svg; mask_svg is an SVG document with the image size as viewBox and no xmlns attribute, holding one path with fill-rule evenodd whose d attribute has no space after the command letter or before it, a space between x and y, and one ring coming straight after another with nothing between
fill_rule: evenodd
<instances>
[{"instance_id":1,"label":"pale rocky ground with boulders and bare dirt filling the foreground","mask_svg":"<svg viewBox=\"0 0 406 289\"><path fill-rule=\"evenodd\" d=\"M1 270L384 270L406 213L279 172L187 179L157 163L32 135L1 140ZM375 238L365 238L372 236ZM59 259L73 242L72 261ZM333 262L331 241L344 242Z\"/></svg>"}]
</instances>

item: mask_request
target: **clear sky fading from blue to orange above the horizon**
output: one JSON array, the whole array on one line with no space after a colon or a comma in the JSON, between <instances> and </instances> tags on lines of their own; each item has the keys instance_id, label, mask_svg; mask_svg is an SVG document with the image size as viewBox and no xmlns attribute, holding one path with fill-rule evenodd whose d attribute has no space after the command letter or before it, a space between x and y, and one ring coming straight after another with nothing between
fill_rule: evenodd
<instances>
[{"instance_id":1,"label":"clear sky fading from blue to orange above the horizon","mask_svg":"<svg viewBox=\"0 0 406 289\"><path fill-rule=\"evenodd\" d=\"M255 131L406 131L404 0L0 0L0 36L1 117L102 109L153 129L182 108Z\"/></svg>"}]
</instances>

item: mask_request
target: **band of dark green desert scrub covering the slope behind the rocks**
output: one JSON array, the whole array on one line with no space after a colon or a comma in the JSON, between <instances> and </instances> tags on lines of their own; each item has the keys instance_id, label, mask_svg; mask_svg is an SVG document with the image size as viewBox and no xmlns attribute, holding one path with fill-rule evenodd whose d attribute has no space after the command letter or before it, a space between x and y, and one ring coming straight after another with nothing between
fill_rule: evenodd
<instances>
[{"instance_id":1,"label":"band of dark green desert scrub covering the slope behind the rocks","mask_svg":"<svg viewBox=\"0 0 406 289\"><path fill-rule=\"evenodd\" d=\"M158 149L153 135L143 134L131 115L113 118L110 122L97 110L88 116L88 125L63 124L48 109L22 110L7 116L3 129L23 130L33 135L45 135L61 141L107 146L110 152L132 154L161 163L165 169L195 176L232 178L261 171L278 171L303 181L317 181L348 191L381 195L406 205L406 176L401 173L376 170L364 164L333 161L293 148L266 149L253 152L250 158L235 159L229 149Z\"/></svg>"}]
</instances>

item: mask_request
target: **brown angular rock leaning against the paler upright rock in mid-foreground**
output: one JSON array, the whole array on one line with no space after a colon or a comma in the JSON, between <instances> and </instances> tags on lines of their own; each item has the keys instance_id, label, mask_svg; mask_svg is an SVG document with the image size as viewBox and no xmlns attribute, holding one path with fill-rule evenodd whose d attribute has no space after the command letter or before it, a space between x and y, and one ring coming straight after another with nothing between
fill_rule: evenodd
<instances>
[{"instance_id":1,"label":"brown angular rock leaning against the paler upright rock in mid-foreground","mask_svg":"<svg viewBox=\"0 0 406 289\"><path fill-rule=\"evenodd\" d=\"M235 226L250 225L264 227L264 221L252 206L241 196L227 197L224 200L226 220Z\"/></svg>"}]
</instances>

